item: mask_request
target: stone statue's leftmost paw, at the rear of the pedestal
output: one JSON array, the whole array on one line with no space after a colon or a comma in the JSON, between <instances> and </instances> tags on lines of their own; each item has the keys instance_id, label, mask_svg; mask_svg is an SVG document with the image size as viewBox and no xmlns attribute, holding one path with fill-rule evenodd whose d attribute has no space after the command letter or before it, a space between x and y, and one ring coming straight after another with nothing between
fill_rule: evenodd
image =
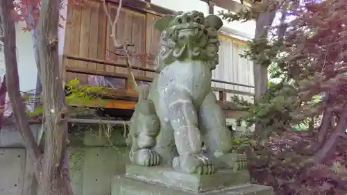
<instances>
[{"instance_id":1,"label":"stone statue's leftmost paw, at the rear of the pedestal","mask_svg":"<svg viewBox=\"0 0 347 195\"><path fill-rule=\"evenodd\" d=\"M132 160L142 166L154 167L160 164L160 155L150 149L139 149L132 153Z\"/></svg>"}]
</instances>

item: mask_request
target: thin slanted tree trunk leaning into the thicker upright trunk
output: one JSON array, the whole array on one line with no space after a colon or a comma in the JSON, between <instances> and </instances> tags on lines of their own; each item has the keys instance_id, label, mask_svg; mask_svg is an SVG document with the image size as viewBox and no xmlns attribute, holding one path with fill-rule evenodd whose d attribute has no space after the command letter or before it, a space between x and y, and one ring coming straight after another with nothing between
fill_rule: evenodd
<instances>
[{"instance_id":1,"label":"thin slanted tree trunk leaning into the thicker upright trunk","mask_svg":"<svg viewBox=\"0 0 347 195\"><path fill-rule=\"evenodd\" d=\"M33 132L28 124L25 105L19 91L15 21L11 17L12 12L14 11L13 8L13 1L0 1L0 17L3 26L3 54L5 57L6 67L6 85L17 129L22 135L28 156L35 167L35 176L36 178L40 178L40 157L42 154L40 153L39 146L37 146Z\"/></svg>"}]
</instances>

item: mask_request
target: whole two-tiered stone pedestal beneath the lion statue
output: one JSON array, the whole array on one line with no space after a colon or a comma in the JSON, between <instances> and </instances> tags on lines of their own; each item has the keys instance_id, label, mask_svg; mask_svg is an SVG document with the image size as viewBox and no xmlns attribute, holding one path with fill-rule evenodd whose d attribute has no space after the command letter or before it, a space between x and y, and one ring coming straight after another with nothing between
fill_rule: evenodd
<instances>
[{"instance_id":1,"label":"whole two-tiered stone pedestal beneath the lion statue","mask_svg":"<svg viewBox=\"0 0 347 195\"><path fill-rule=\"evenodd\" d=\"M198 176L171 168L127 165L126 174L112 180L112 195L273 195L272 187L249 181L248 171Z\"/></svg>"}]
</instances>

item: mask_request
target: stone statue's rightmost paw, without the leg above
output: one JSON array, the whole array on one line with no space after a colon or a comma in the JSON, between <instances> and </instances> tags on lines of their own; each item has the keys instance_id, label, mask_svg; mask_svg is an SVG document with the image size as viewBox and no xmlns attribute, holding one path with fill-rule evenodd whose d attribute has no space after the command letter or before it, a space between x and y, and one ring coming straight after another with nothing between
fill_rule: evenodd
<instances>
[{"instance_id":1,"label":"stone statue's rightmost paw, without the leg above","mask_svg":"<svg viewBox=\"0 0 347 195\"><path fill-rule=\"evenodd\" d=\"M247 168L247 158L245 154L225 153L217 157L217 164L220 169L239 171Z\"/></svg>"}]
</instances>

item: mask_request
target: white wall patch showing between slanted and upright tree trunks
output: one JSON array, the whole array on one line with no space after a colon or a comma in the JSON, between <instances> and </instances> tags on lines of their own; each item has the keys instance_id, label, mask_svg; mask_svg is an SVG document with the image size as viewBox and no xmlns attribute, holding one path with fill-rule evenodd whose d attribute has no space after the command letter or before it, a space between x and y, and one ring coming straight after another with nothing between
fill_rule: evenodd
<instances>
[{"instance_id":1,"label":"white wall patch showing between slanted and upright tree trunks","mask_svg":"<svg viewBox=\"0 0 347 195\"><path fill-rule=\"evenodd\" d=\"M33 42L31 41L31 33L23 32L22 28L26 26L24 22L16 25L17 38L17 62L19 71L19 85L22 92L35 90L37 68L35 63ZM0 53L0 70L5 70L5 62L3 52Z\"/></svg>"}]
</instances>

